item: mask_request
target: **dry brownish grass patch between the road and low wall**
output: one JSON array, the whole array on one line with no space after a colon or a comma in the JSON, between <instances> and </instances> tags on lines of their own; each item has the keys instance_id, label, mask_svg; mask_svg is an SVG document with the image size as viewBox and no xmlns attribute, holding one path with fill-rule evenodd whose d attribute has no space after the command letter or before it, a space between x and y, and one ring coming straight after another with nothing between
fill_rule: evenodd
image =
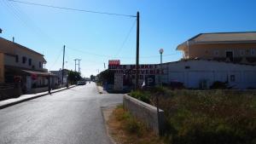
<instances>
[{"instance_id":1,"label":"dry brownish grass patch between the road and low wall","mask_svg":"<svg viewBox=\"0 0 256 144\"><path fill-rule=\"evenodd\" d=\"M161 144L159 136L152 130L133 118L129 112L122 107L113 110L108 120L110 135L118 144Z\"/></svg>"}]
</instances>

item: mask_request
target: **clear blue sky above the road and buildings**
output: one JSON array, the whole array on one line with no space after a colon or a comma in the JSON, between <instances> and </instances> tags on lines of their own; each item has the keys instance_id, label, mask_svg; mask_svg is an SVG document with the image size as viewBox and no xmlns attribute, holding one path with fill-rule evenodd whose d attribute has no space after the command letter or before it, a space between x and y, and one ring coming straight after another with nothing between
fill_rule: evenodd
<instances>
[{"instance_id":1,"label":"clear blue sky above the road and buildings","mask_svg":"<svg viewBox=\"0 0 256 144\"><path fill-rule=\"evenodd\" d=\"M31 3L119 14L141 13L140 63L179 60L177 44L201 32L256 31L255 0L21 0ZM103 63L119 59L134 64L136 26L124 47L135 18L50 9L0 0L0 37L44 53L49 70L59 70L62 47L67 46L67 68L81 61L84 76L104 69ZM122 49L121 49L122 48ZM96 55L94 55L96 54ZM148 57L152 56L152 57Z\"/></svg>"}]
</instances>

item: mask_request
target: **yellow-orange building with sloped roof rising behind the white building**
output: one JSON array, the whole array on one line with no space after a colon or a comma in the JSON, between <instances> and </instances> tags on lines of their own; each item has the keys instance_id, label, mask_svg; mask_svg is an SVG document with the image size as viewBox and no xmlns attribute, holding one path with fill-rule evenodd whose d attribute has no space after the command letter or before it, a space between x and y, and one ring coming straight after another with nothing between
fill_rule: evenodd
<instances>
[{"instance_id":1,"label":"yellow-orange building with sloped roof rising behind the white building","mask_svg":"<svg viewBox=\"0 0 256 144\"><path fill-rule=\"evenodd\" d=\"M256 32L201 33L177 46L183 60L206 59L256 65Z\"/></svg>"}]
</instances>

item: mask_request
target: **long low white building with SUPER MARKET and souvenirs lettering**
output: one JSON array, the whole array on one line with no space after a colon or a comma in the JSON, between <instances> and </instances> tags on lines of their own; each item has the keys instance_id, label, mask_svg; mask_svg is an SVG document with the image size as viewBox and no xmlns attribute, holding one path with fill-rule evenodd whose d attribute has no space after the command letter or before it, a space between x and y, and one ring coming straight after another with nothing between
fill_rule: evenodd
<instances>
[{"instance_id":1,"label":"long low white building with SUPER MARKET and souvenirs lettering","mask_svg":"<svg viewBox=\"0 0 256 144\"><path fill-rule=\"evenodd\" d=\"M134 65L110 66L115 84L135 84ZM209 89L214 82L224 82L233 89L256 89L256 66L217 60L179 60L158 65L140 65L139 84L158 85L180 82L187 89Z\"/></svg>"}]
</instances>

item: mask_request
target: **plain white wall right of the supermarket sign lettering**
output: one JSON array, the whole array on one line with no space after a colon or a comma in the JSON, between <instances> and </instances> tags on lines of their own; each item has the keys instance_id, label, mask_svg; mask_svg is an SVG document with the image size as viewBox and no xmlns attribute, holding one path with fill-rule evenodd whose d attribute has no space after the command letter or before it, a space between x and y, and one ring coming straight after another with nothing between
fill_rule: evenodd
<instances>
[{"instance_id":1,"label":"plain white wall right of the supermarket sign lettering","mask_svg":"<svg viewBox=\"0 0 256 144\"><path fill-rule=\"evenodd\" d=\"M168 65L168 81L182 82L187 88L199 88L202 80L207 82L208 87L215 81L228 80L230 86L236 89L256 88L256 66L212 60L178 61L165 65ZM231 75L235 76L234 82L231 82Z\"/></svg>"}]
</instances>

